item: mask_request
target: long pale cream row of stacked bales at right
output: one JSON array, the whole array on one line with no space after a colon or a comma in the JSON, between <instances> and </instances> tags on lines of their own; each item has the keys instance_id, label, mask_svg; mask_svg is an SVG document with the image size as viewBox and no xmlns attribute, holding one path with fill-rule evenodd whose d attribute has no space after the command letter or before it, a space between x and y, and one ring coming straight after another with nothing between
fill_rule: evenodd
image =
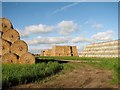
<instances>
[{"instance_id":1,"label":"long pale cream row of stacked bales at right","mask_svg":"<svg viewBox=\"0 0 120 90\"><path fill-rule=\"evenodd\" d=\"M81 53L80 57L118 57L120 54L119 42L113 40L108 42L100 42L89 44Z\"/></svg>"}]
</instances>

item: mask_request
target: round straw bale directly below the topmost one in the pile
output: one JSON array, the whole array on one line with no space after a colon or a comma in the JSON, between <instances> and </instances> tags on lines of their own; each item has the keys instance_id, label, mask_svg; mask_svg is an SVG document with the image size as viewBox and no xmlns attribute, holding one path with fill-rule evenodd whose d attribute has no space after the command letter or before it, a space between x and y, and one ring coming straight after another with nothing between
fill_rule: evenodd
<instances>
[{"instance_id":1,"label":"round straw bale directly below the topmost one in the pile","mask_svg":"<svg viewBox=\"0 0 120 90\"><path fill-rule=\"evenodd\" d=\"M20 39L20 35L16 30L10 29L3 33L2 38L13 43Z\"/></svg>"}]
</instances>

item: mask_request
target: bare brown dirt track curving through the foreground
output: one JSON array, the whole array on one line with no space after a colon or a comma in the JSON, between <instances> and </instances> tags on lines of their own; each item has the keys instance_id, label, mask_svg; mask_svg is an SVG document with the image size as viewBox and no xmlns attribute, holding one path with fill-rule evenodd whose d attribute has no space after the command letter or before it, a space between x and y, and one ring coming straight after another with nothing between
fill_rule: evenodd
<instances>
[{"instance_id":1,"label":"bare brown dirt track curving through the foreground","mask_svg":"<svg viewBox=\"0 0 120 90\"><path fill-rule=\"evenodd\" d=\"M74 63L75 64L75 63ZM48 77L40 82L14 86L12 88L117 88L111 84L113 72L82 64L69 71Z\"/></svg>"}]
</instances>

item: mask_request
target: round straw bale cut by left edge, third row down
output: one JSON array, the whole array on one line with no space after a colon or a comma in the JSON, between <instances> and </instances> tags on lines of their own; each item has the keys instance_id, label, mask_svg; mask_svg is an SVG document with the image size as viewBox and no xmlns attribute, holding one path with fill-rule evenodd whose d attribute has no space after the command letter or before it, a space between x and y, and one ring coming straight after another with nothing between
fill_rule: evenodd
<instances>
[{"instance_id":1,"label":"round straw bale cut by left edge, third row down","mask_svg":"<svg viewBox=\"0 0 120 90\"><path fill-rule=\"evenodd\" d=\"M10 52L10 43L2 38L0 38L0 55Z\"/></svg>"}]
</instances>

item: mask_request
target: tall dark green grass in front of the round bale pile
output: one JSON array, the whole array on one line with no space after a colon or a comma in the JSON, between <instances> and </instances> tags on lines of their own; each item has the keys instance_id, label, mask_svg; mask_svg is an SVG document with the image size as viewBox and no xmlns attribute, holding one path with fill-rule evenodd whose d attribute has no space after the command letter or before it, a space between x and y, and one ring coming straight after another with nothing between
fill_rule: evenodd
<instances>
[{"instance_id":1,"label":"tall dark green grass in front of the round bale pile","mask_svg":"<svg viewBox=\"0 0 120 90\"><path fill-rule=\"evenodd\" d=\"M47 76L54 75L61 69L62 66L58 62L39 63L33 65L3 64L2 85L5 88L42 80Z\"/></svg>"}]
</instances>

